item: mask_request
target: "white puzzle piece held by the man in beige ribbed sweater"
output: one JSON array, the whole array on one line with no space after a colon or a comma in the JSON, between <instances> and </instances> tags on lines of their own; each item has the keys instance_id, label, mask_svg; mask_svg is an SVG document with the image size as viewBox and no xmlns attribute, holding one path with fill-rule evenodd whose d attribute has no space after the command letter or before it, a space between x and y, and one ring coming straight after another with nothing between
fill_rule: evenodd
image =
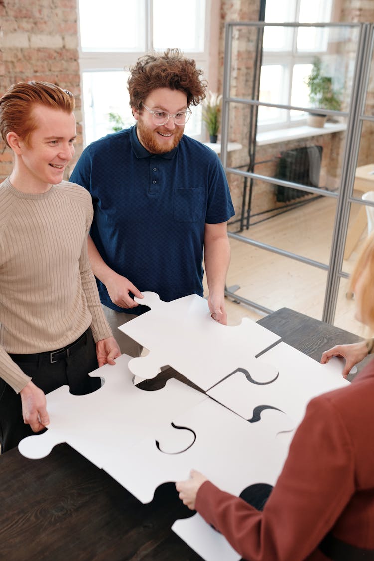
<instances>
[{"instance_id":1,"label":"white puzzle piece held by the man in beige ribbed sweater","mask_svg":"<svg viewBox=\"0 0 374 561\"><path fill-rule=\"evenodd\" d=\"M27 458L43 458L55 445L67 442L126 486L122 481L122 462L128 462L128 449L145 436L155 436L155 447L158 437L167 439L169 453L191 445L191 433L173 429L170 423L184 408L207 399L205 394L174 379L155 392L138 389L128 370L130 358L122 355L116 358L116 365L94 370L92 376L105 377L103 387L94 393L72 396L67 386L49 393L46 396L48 430L22 440L20 452ZM164 442L160 445L162 448Z\"/></svg>"}]
</instances>

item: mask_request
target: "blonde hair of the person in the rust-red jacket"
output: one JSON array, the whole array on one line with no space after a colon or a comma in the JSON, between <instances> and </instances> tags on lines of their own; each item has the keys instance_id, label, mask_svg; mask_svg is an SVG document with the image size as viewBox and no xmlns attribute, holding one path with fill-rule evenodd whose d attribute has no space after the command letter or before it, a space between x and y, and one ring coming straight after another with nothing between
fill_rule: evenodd
<instances>
[{"instance_id":1,"label":"blonde hair of the person in the rust-red jacket","mask_svg":"<svg viewBox=\"0 0 374 561\"><path fill-rule=\"evenodd\" d=\"M357 307L361 321L374 331L374 232L366 242L350 275L350 290L357 293Z\"/></svg>"}]
</instances>

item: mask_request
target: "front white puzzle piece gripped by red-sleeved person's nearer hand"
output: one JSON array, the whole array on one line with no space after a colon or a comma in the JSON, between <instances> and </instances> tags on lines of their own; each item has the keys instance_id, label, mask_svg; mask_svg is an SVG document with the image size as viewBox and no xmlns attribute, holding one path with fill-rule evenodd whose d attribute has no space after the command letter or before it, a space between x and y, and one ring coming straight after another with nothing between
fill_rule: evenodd
<instances>
[{"instance_id":1,"label":"front white puzzle piece gripped by red-sleeved person's nearer hand","mask_svg":"<svg viewBox=\"0 0 374 561\"><path fill-rule=\"evenodd\" d=\"M249 423L213 399L185 409L173 417L173 423L193 431L196 439L191 447L164 454L151 436L145 437L131 448L131 462L122 466L124 486L142 503L153 498L159 485L187 479L191 468L235 495L256 482L274 485L291 438L285 439L284 433L291 434L294 427L287 415L276 410L263 411L261 421ZM281 438L278 433L283 433ZM163 447L167 448L166 440Z\"/></svg>"}]
</instances>

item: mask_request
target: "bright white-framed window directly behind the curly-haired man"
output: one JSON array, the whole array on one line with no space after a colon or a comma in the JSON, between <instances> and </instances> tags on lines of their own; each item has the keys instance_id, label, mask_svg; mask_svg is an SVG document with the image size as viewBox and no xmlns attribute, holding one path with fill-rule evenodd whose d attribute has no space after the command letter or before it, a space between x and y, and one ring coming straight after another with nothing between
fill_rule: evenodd
<instances>
[{"instance_id":1,"label":"bright white-framed window directly behind the curly-haired man","mask_svg":"<svg viewBox=\"0 0 374 561\"><path fill-rule=\"evenodd\" d=\"M79 0L84 143L131 126L128 67L149 50L178 47L208 76L205 33L209 0ZM104 9L103 9L104 6ZM184 131L200 138L201 107L192 107Z\"/></svg>"}]
</instances>

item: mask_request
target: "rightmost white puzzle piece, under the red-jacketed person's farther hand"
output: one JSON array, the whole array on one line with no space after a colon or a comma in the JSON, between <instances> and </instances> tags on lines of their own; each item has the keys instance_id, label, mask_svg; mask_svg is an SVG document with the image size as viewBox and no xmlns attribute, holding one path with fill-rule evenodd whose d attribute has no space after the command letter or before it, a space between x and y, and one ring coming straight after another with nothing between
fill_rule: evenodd
<instances>
[{"instance_id":1,"label":"rightmost white puzzle piece, under the red-jacketed person's farther hand","mask_svg":"<svg viewBox=\"0 0 374 561\"><path fill-rule=\"evenodd\" d=\"M320 364L284 342L261 355L261 360L276 365L279 376L274 383L252 384L238 372L207 394L244 419L251 419L258 406L276 407L291 417L297 427L313 397L349 385L341 376L339 360L331 358L327 364Z\"/></svg>"}]
</instances>

